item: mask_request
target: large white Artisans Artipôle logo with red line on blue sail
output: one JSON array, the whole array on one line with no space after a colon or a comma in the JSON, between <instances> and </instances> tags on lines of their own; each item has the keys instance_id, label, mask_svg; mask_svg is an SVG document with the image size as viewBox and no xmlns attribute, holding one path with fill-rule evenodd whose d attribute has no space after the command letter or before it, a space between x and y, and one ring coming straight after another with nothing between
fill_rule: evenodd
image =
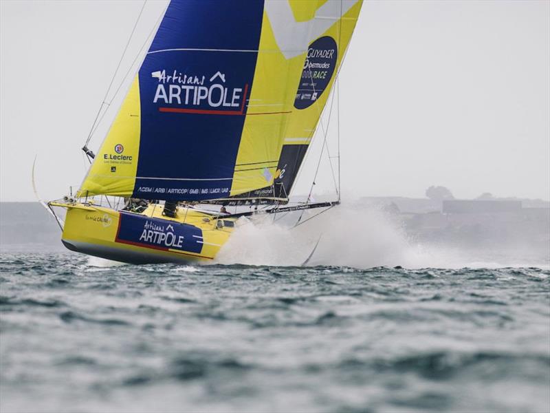
<instances>
[{"instance_id":1,"label":"large white Artisans Artip\u00f4le logo with red line on blue sail","mask_svg":"<svg viewBox=\"0 0 550 413\"><path fill-rule=\"evenodd\" d=\"M153 103L160 112L193 114L243 114L248 84L231 87L225 73L219 70L211 76L182 74L173 70L151 72L158 81Z\"/></svg>"}]
</instances>

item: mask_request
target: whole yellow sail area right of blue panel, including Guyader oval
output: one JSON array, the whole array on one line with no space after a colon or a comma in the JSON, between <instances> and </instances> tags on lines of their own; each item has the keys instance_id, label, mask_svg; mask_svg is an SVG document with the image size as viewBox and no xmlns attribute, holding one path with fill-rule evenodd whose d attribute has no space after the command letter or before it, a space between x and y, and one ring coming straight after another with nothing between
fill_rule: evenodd
<instances>
[{"instance_id":1,"label":"whole yellow sail area right of blue panel, including Guyader oval","mask_svg":"<svg viewBox=\"0 0 550 413\"><path fill-rule=\"evenodd\" d=\"M287 198L361 6L362 0L265 2L231 196Z\"/></svg>"}]
</instances>

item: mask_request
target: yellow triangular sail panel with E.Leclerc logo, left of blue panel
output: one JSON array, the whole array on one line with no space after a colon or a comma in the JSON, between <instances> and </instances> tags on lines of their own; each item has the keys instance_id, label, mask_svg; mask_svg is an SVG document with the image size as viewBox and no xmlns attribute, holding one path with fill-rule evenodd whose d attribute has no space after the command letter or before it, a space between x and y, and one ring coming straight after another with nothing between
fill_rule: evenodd
<instances>
[{"instance_id":1,"label":"yellow triangular sail panel with E.Leclerc logo, left of blue panel","mask_svg":"<svg viewBox=\"0 0 550 413\"><path fill-rule=\"evenodd\" d=\"M132 195L140 149L140 125L140 86L135 76L77 196Z\"/></svg>"}]
</instances>

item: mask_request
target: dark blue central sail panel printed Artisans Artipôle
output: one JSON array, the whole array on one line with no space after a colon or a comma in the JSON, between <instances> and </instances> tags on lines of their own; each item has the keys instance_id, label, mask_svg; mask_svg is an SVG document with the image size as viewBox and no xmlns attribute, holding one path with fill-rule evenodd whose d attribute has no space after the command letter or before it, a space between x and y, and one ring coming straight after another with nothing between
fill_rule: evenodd
<instances>
[{"instance_id":1,"label":"dark blue central sail panel printed Artisans Artip\u00f4le","mask_svg":"<svg viewBox=\"0 0 550 413\"><path fill-rule=\"evenodd\" d=\"M256 67L263 1L172 1L140 68L133 196L229 195Z\"/></svg>"}]
</instances>

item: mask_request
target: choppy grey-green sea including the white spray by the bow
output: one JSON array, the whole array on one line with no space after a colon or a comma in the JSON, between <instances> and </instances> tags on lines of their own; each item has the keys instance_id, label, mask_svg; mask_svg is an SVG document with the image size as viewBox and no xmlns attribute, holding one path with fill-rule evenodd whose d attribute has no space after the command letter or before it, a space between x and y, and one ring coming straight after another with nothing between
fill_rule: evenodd
<instances>
[{"instance_id":1,"label":"choppy grey-green sea including the white spray by the bow","mask_svg":"<svg viewBox=\"0 0 550 413\"><path fill-rule=\"evenodd\" d=\"M244 222L212 265L1 253L0 411L550 411L547 255L353 218Z\"/></svg>"}]
</instances>

